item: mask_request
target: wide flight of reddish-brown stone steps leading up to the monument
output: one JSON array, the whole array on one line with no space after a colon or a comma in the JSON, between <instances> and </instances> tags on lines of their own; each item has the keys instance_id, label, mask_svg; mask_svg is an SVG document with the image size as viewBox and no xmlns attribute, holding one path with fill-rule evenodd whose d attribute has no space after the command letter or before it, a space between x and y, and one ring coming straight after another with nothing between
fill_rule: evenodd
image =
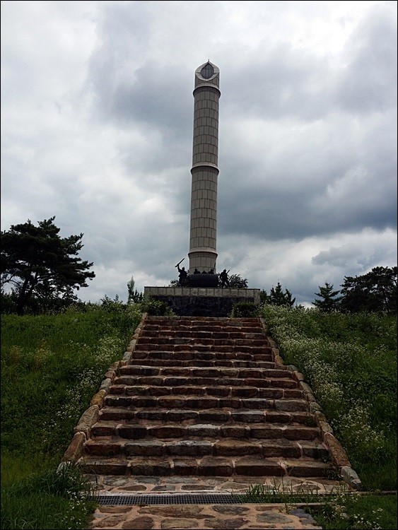
<instances>
[{"instance_id":1,"label":"wide flight of reddish-brown stone steps leading up to the monument","mask_svg":"<svg viewBox=\"0 0 398 530\"><path fill-rule=\"evenodd\" d=\"M146 317L78 462L101 476L327 478L295 374L257 318Z\"/></svg>"}]
</instances>

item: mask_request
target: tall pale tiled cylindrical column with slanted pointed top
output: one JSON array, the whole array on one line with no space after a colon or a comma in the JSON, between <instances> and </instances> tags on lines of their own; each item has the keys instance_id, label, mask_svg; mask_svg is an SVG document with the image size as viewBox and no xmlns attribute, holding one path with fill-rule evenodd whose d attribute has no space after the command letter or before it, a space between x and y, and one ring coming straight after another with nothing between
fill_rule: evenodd
<instances>
[{"instance_id":1,"label":"tall pale tiled cylindrical column with slanted pointed top","mask_svg":"<svg viewBox=\"0 0 398 530\"><path fill-rule=\"evenodd\" d=\"M210 61L195 71L189 274L216 272L219 85Z\"/></svg>"}]
</instances>

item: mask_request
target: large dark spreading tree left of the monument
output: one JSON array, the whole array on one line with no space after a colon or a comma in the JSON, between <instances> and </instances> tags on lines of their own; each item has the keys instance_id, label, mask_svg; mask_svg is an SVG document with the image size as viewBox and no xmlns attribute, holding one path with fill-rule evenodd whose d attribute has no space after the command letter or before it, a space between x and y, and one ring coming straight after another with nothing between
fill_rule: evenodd
<instances>
[{"instance_id":1,"label":"large dark spreading tree left of the monument","mask_svg":"<svg viewBox=\"0 0 398 530\"><path fill-rule=\"evenodd\" d=\"M88 287L93 263L77 257L83 234L59 237L55 216L11 225L1 231L1 285L11 283L17 295L17 312L23 314L31 298L71 297L72 289Z\"/></svg>"}]
</instances>

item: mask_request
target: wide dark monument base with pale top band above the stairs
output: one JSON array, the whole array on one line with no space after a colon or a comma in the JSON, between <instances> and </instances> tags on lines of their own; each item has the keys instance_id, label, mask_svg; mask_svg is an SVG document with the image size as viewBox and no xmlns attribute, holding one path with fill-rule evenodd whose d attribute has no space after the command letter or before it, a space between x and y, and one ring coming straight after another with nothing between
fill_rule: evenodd
<instances>
[{"instance_id":1,"label":"wide dark monument base with pale top band above the stairs","mask_svg":"<svg viewBox=\"0 0 398 530\"><path fill-rule=\"evenodd\" d=\"M166 302L180 317L229 317L238 302L260 302L259 289L144 287L144 296Z\"/></svg>"}]
</instances>

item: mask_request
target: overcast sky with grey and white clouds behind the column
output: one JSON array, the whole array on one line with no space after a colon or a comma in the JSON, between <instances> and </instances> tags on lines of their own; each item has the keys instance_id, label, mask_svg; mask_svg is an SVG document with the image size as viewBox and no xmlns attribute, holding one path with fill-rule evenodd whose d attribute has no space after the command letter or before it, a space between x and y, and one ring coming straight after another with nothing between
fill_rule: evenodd
<instances>
[{"instance_id":1,"label":"overcast sky with grey and white clouds behind the column","mask_svg":"<svg viewBox=\"0 0 398 530\"><path fill-rule=\"evenodd\" d=\"M83 232L81 300L177 278L208 59L217 270L308 305L397 265L396 1L1 1L1 230Z\"/></svg>"}]
</instances>

